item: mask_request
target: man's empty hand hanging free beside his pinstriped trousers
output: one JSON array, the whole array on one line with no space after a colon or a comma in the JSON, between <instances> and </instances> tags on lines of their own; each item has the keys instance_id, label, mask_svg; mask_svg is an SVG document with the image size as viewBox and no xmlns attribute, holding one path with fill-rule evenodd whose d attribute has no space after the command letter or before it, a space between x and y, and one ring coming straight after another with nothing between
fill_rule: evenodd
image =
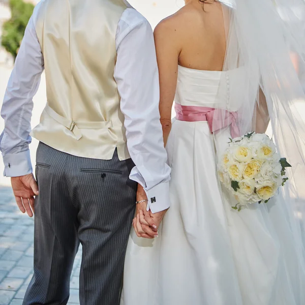
<instances>
[{"instance_id":1,"label":"man's empty hand hanging free beside his pinstriped trousers","mask_svg":"<svg viewBox=\"0 0 305 305\"><path fill-rule=\"evenodd\" d=\"M29 217L33 217L35 199L38 195L38 186L33 174L11 178L12 188L16 202L22 213L27 212ZM32 208L32 209L31 209Z\"/></svg>"}]
</instances>

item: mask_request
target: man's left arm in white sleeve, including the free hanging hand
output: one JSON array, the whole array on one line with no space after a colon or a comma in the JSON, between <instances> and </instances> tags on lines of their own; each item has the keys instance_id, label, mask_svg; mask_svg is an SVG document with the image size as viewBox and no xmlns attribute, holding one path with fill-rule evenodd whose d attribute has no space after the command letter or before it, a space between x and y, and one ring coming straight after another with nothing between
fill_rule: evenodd
<instances>
[{"instance_id":1,"label":"man's left arm in white sleeve, including the free hanging hand","mask_svg":"<svg viewBox=\"0 0 305 305\"><path fill-rule=\"evenodd\" d=\"M30 217L33 216L34 196L38 195L38 187L29 155L29 132L33 97L43 72L43 56L36 36L34 14L25 29L6 89L1 110L5 129L0 136L0 150L5 164L4 175L12 177L12 188L19 209L23 213L26 211Z\"/></svg>"}]
</instances>

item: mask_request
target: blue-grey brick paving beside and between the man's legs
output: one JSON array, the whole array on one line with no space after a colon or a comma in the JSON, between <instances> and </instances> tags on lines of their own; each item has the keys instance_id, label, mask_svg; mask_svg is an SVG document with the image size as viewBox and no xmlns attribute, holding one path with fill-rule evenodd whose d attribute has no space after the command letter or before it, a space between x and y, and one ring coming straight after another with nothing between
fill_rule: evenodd
<instances>
[{"instance_id":1,"label":"blue-grey brick paving beside and between the man's legs","mask_svg":"<svg viewBox=\"0 0 305 305\"><path fill-rule=\"evenodd\" d=\"M34 219L23 215L9 187L0 187L0 305L21 305L33 276ZM79 304L81 251L76 256L68 304Z\"/></svg>"}]
</instances>

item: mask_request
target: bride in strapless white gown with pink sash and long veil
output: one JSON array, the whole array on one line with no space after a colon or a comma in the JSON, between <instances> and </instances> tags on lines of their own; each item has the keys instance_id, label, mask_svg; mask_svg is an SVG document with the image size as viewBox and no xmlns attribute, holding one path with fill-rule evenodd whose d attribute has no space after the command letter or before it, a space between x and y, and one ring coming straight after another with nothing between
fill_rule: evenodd
<instances>
[{"instance_id":1,"label":"bride in strapless white gown with pink sash and long veil","mask_svg":"<svg viewBox=\"0 0 305 305\"><path fill-rule=\"evenodd\" d=\"M158 238L132 230L121 305L305 304L305 95L295 69L304 13L302 0L186 0L156 27L171 207ZM268 203L234 210L217 164L234 127L241 136L268 125L292 165L289 183Z\"/></svg>"}]
</instances>

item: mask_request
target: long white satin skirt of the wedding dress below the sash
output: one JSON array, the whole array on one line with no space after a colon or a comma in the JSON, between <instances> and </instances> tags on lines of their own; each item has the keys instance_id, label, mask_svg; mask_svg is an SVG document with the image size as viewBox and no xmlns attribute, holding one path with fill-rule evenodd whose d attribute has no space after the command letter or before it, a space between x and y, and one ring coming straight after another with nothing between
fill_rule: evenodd
<instances>
[{"instance_id":1,"label":"long white satin skirt of the wedding dress below the sash","mask_svg":"<svg viewBox=\"0 0 305 305\"><path fill-rule=\"evenodd\" d=\"M132 229L120 305L305 305L300 235L283 198L233 210L206 122L175 121L167 151L171 207L158 238Z\"/></svg>"}]
</instances>

